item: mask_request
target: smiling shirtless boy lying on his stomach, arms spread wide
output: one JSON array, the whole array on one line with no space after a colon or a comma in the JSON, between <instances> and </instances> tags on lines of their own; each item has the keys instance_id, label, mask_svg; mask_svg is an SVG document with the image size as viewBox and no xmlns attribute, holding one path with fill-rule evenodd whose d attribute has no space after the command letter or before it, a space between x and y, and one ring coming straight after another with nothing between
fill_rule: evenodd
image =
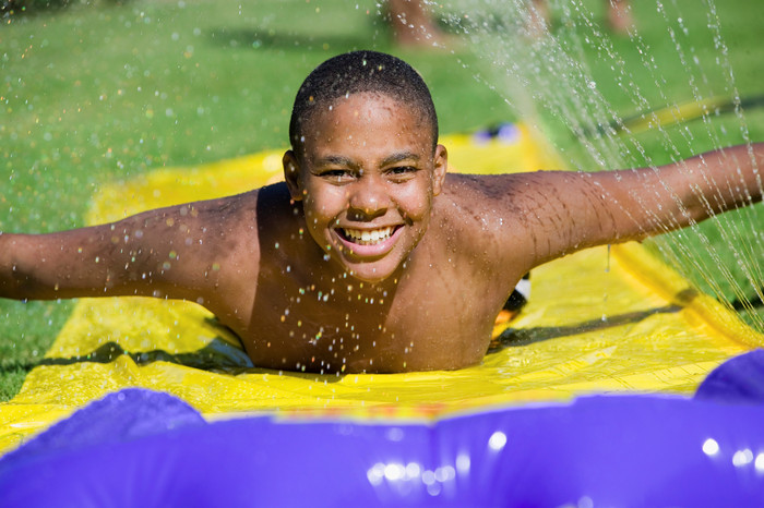
<instances>
[{"instance_id":1,"label":"smiling shirtless boy lying on his stomach, arms spread wide","mask_svg":"<svg viewBox=\"0 0 764 508\"><path fill-rule=\"evenodd\" d=\"M480 362L530 268L762 197L762 144L658 170L446 174L427 86L371 51L306 78L289 135L284 183L0 235L0 297L194 301L259 367L459 368Z\"/></svg>"}]
</instances>

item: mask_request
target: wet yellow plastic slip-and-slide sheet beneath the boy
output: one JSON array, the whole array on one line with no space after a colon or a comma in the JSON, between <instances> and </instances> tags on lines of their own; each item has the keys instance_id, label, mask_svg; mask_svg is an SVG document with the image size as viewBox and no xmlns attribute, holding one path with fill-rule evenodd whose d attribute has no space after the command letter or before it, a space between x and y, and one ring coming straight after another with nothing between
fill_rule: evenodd
<instances>
[{"instance_id":1,"label":"wet yellow plastic slip-and-slide sheet beneath the boy","mask_svg":"<svg viewBox=\"0 0 764 508\"><path fill-rule=\"evenodd\" d=\"M518 126L512 143L450 136L470 172L560 167ZM280 152L166 169L102 189L91 223L234 194L280 179ZM514 166L513 166L514 165ZM597 247L534 270L515 320L481 365L453 372L315 375L254 368L204 309L146 298L83 299L19 395L0 404L0 451L124 387L162 390L206 418L275 412L427 419L592 392L691 394L730 356L764 343L638 245Z\"/></svg>"}]
</instances>

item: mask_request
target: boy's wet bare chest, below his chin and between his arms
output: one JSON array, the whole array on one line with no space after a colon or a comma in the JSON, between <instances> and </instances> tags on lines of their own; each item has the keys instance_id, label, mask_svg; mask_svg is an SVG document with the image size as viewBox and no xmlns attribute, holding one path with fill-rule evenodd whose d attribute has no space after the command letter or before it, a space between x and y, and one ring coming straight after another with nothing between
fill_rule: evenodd
<instances>
[{"instance_id":1,"label":"boy's wet bare chest, below his chin and between his arms","mask_svg":"<svg viewBox=\"0 0 764 508\"><path fill-rule=\"evenodd\" d=\"M401 372L478 363L501 295L417 267L391 289L351 278L298 283L261 278L240 331L255 365L306 372Z\"/></svg>"}]
</instances>

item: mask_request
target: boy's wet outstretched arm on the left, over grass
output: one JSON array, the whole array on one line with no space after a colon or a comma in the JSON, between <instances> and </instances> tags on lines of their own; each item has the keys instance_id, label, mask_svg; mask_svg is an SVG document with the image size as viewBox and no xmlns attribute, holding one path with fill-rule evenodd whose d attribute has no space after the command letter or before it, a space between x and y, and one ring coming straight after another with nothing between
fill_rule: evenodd
<instances>
[{"instance_id":1,"label":"boy's wet outstretched arm on the left, over grass","mask_svg":"<svg viewBox=\"0 0 764 508\"><path fill-rule=\"evenodd\" d=\"M0 234L0 298L152 295L207 303L227 279L256 266L239 266L237 256L248 249L252 258L250 237L232 226L247 214L243 203L235 196L71 231Z\"/></svg>"}]
</instances>

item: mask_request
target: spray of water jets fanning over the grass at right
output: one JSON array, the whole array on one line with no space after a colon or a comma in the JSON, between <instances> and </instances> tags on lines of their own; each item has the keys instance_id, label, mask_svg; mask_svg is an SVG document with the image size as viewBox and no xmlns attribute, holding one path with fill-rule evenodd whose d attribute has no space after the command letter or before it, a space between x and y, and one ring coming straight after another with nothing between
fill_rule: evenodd
<instances>
[{"instance_id":1,"label":"spray of water jets fanning over the grass at right","mask_svg":"<svg viewBox=\"0 0 764 508\"><path fill-rule=\"evenodd\" d=\"M526 0L437 3L485 62L480 78L550 140L571 169L656 168L732 144L750 147L743 106L755 101L738 89L714 0L703 9L681 0L641 2L658 12L659 23L643 27L636 15L623 35L590 9L607 2L550 1L549 22ZM729 164L735 171L737 161ZM764 313L753 311L764 302L763 230L759 205L652 245L764 330Z\"/></svg>"}]
</instances>

